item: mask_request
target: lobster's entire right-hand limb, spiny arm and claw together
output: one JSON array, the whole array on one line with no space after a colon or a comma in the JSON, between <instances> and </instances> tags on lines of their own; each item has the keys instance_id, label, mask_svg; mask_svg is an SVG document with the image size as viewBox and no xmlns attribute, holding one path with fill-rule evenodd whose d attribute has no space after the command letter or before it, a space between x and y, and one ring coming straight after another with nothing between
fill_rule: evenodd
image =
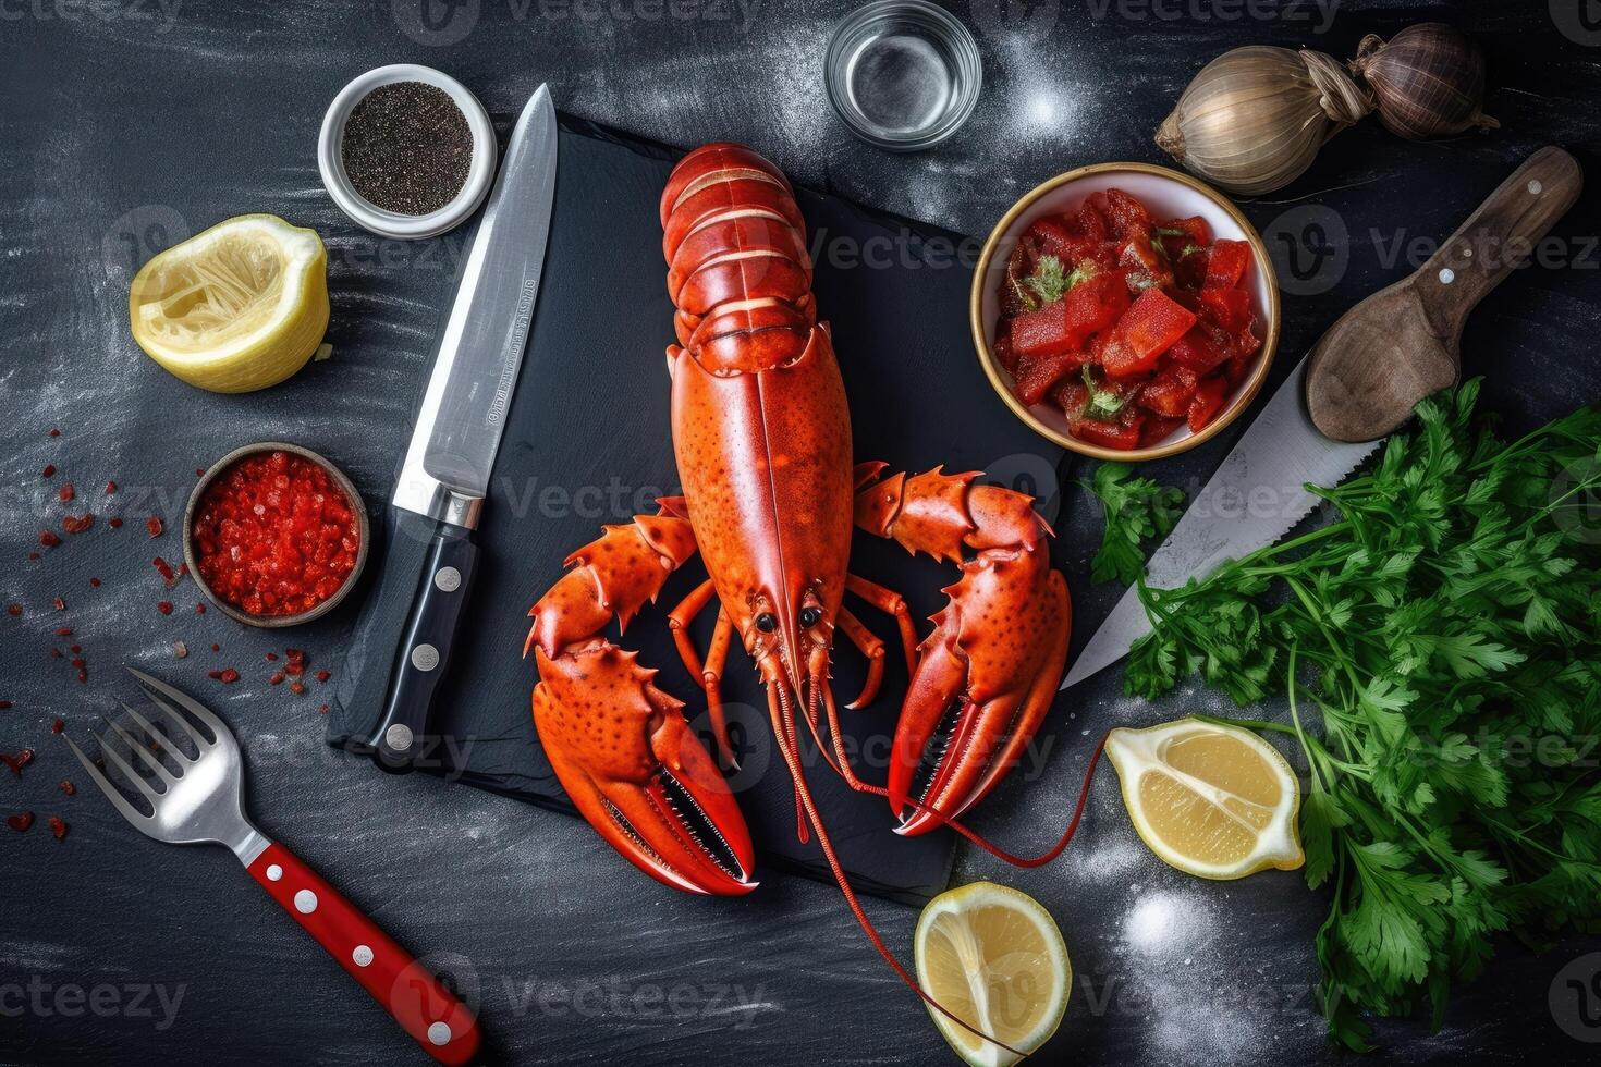
<instances>
[{"instance_id":1,"label":"lobster's entire right-hand limb, spiny arm and claw together","mask_svg":"<svg viewBox=\"0 0 1601 1067\"><path fill-rule=\"evenodd\" d=\"M1017 763L1066 665L1073 609L1031 498L978 485L977 472L882 470L858 469L857 525L962 573L917 649L895 728L889 800L898 814L916 801L897 829L913 835L961 816Z\"/></svg>"}]
</instances>

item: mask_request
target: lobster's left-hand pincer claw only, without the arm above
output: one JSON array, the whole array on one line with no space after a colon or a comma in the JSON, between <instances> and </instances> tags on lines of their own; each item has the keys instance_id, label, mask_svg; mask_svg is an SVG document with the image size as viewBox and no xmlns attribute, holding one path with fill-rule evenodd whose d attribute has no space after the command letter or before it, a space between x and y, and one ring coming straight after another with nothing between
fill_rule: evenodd
<instances>
[{"instance_id":1,"label":"lobster's left-hand pincer claw only, without the arm above","mask_svg":"<svg viewBox=\"0 0 1601 1067\"><path fill-rule=\"evenodd\" d=\"M554 659L538 649L536 661L535 726L589 825L676 889L754 889L744 816L684 720L684 704L652 683L656 672L599 640Z\"/></svg>"}]
</instances>

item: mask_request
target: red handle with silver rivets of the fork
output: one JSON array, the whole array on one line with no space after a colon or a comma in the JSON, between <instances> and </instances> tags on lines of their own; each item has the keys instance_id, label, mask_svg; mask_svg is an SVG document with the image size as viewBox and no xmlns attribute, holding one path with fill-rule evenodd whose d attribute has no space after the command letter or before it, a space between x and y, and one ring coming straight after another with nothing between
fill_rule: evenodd
<instances>
[{"instance_id":1,"label":"red handle with silver rivets of the fork","mask_svg":"<svg viewBox=\"0 0 1601 1067\"><path fill-rule=\"evenodd\" d=\"M250 864L250 875L423 1051L442 1064L472 1059L479 1022L467 1006L315 870L274 843Z\"/></svg>"}]
</instances>

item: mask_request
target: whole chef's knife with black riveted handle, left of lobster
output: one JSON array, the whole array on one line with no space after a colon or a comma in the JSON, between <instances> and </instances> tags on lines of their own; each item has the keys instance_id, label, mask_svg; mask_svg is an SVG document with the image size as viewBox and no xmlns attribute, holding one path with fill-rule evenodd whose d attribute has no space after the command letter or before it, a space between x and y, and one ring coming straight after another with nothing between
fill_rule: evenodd
<instances>
[{"instance_id":1,"label":"whole chef's knife with black riveted handle, left of lobster","mask_svg":"<svg viewBox=\"0 0 1601 1067\"><path fill-rule=\"evenodd\" d=\"M556 107L541 85L506 144L459 269L434 370L391 498L383 573L352 635L338 697L379 766L445 760L432 712L472 589L472 531L528 338L556 200Z\"/></svg>"}]
</instances>

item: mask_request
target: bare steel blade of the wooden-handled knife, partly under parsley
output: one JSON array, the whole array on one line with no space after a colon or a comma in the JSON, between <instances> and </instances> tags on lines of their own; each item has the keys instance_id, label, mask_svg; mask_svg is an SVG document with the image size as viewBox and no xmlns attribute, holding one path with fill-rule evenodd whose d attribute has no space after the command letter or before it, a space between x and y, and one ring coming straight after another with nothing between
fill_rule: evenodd
<instances>
[{"instance_id":1,"label":"bare steel blade of the wooden-handled knife, partly under parsley","mask_svg":"<svg viewBox=\"0 0 1601 1067\"><path fill-rule=\"evenodd\" d=\"M1383 438L1334 442L1318 432L1306 413L1306 358L1273 394L1268 405L1206 483L1190 510L1146 565L1146 584L1156 589L1204 577L1223 561L1270 545L1318 506L1306 483L1334 486L1356 470ZM1073 661L1061 688L1122 659L1151 632L1151 619L1130 587Z\"/></svg>"}]
</instances>

